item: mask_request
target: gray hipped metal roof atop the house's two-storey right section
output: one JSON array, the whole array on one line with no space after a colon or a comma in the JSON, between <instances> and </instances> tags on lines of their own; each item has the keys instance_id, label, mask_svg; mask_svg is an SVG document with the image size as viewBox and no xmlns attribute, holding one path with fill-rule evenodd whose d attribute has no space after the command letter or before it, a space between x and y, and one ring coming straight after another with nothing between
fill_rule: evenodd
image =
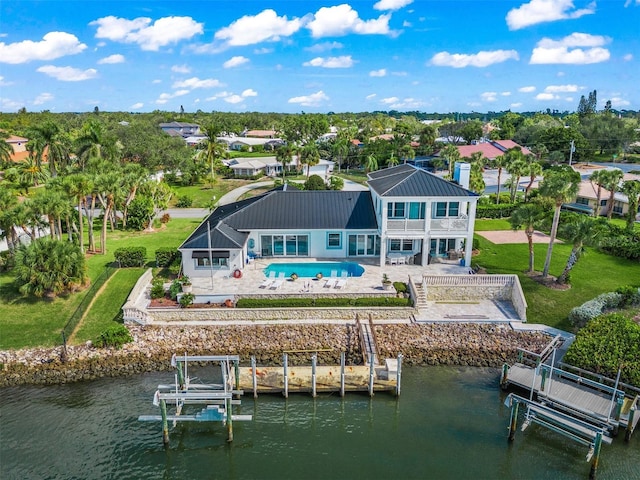
<instances>
[{"instance_id":1,"label":"gray hipped metal roof atop the house's two-storey right section","mask_svg":"<svg viewBox=\"0 0 640 480\"><path fill-rule=\"evenodd\" d=\"M449 182L413 165L378 170L369 174L369 187L381 197L477 197L456 183Z\"/></svg>"}]
</instances>

